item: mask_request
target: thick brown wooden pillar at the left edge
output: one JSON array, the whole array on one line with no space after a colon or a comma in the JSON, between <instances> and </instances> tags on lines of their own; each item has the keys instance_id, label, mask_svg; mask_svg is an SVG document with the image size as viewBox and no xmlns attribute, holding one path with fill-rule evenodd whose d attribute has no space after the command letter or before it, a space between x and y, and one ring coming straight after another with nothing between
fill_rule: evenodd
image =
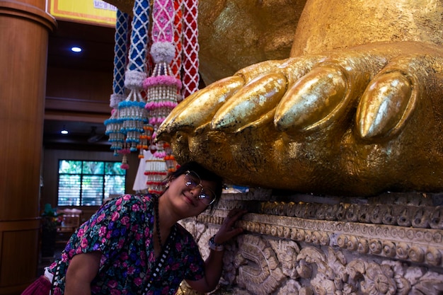
<instances>
[{"instance_id":1,"label":"thick brown wooden pillar at the left edge","mask_svg":"<svg viewBox=\"0 0 443 295\"><path fill-rule=\"evenodd\" d=\"M45 0L0 0L0 294L35 280L47 42Z\"/></svg>"}]
</instances>

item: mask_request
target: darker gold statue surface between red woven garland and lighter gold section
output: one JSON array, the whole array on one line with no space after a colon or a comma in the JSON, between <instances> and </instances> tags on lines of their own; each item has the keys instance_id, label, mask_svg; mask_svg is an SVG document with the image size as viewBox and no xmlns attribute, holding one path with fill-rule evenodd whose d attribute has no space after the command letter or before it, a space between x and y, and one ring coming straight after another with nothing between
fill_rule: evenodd
<instances>
[{"instance_id":1,"label":"darker gold statue surface between red woven garland and lighter gold section","mask_svg":"<svg viewBox=\"0 0 443 295\"><path fill-rule=\"evenodd\" d=\"M134 0L108 0L132 14ZM200 74L206 85L245 66L289 56L306 0L198 1Z\"/></svg>"}]
</instances>

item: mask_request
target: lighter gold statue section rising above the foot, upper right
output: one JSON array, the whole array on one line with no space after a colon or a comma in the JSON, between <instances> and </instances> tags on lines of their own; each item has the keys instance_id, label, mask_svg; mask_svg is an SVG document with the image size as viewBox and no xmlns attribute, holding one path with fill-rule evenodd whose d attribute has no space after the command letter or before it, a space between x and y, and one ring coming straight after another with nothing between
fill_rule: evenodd
<instances>
[{"instance_id":1,"label":"lighter gold statue section rising above the foot, upper right","mask_svg":"<svg viewBox=\"0 0 443 295\"><path fill-rule=\"evenodd\" d=\"M442 45L442 1L306 1L291 56L379 42Z\"/></svg>"}]
</instances>

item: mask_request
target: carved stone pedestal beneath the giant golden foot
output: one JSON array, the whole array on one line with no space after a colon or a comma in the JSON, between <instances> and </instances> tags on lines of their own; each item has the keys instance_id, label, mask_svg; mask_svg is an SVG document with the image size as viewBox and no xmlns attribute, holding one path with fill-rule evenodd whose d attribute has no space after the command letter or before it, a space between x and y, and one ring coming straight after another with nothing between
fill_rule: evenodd
<instances>
[{"instance_id":1,"label":"carved stone pedestal beneath the giant golden foot","mask_svg":"<svg viewBox=\"0 0 443 295\"><path fill-rule=\"evenodd\" d=\"M225 194L183 221L204 258L229 209L248 209L214 294L443 294L441 195ZM188 293L186 293L188 294Z\"/></svg>"}]
</instances>

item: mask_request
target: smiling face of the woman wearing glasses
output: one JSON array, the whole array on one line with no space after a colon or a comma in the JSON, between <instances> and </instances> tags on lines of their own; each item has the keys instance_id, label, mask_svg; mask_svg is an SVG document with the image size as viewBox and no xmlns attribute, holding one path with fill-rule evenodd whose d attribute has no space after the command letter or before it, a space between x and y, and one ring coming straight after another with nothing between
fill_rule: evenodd
<instances>
[{"instance_id":1,"label":"smiling face of the woman wearing glasses","mask_svg":"<svg viewBox=\"0 0 443 295\"><path fill-rule=\"evenodd\" d=\"M200 180L198 175L189 171L170 181L166 191L175 209L182 218L196 216L209 206L215 198L216 183Z\"/></svg>"}]
</instances>

